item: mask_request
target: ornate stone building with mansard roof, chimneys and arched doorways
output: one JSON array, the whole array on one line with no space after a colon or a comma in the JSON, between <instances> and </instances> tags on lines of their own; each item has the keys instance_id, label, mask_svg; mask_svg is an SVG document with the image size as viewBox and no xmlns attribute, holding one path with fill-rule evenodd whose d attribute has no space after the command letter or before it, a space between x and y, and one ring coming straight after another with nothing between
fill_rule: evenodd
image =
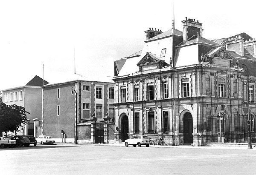
<instances>
[{"instance_id":1,"label":"ornate stone building with mansard roof, chimneys and arched doorways","mask_svg":"<svg viewBox=\"0 0 256 175\"><path fill-rule=\"evenodd\" d=\"M116 141L145 134L166 145L204 146L206 116L247 113L242 64L250 72L250 109L256 112L256 40L244 34L249 41L241 35L211 41L198 20L182 23L183 32L145 31L143 50L115 61Z\"/></svg>"}]
</instances>

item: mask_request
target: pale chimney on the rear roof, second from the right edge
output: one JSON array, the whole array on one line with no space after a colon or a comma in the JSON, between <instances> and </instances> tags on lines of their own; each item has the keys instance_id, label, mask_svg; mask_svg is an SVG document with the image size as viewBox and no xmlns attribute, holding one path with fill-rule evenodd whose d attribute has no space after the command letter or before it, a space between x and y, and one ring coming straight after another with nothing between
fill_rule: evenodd
<instances>
[{"instance_id":1,"label":"pale chimney on the rear roof, second from the right edge","mask_svg":"<svg viewBox=\"0 0 256 175\"><path fill-rule=\"evenodd\" d=\"M226 49L229 51L235 51L241 56L244 56L244 38L241 35L236 37L231 37L231 39L226 42Z\"/></svg>"}]
</instances>

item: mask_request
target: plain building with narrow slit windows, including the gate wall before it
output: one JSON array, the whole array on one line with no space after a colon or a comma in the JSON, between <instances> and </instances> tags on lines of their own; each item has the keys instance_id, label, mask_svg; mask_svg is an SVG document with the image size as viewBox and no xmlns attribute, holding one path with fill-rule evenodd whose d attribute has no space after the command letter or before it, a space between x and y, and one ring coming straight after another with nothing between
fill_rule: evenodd
<instances>
[{"instance_id":1,"label":"plain building with narrow slit windows, including the gate wall before it","mask_svg":"<svg viewBox=\"0 0 256 175\"><path fill-rule=\"evenodd\" d=\"M57 142L97 143L102 138L103 143L106 113L114 118L111 81L79 79L42 86L42 134Z\"/></svg>"}]
</instances>

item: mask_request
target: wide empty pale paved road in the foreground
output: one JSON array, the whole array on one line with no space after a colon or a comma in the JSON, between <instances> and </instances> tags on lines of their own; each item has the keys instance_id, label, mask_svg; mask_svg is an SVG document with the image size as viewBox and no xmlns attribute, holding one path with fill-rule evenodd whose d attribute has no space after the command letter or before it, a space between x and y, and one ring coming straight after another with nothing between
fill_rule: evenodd
<instances>
[{"instance_id":1,"label":"wide empty pale paved road in the foreground","mask_svg":"<svg viewBox=\"0 0 256 175\"><path fill-rule=\"evenodd\" d=\"M256 150L38 145L0 149L0 166L9 175L241 175L256 174Z\"/></svg>"}]
</instances>

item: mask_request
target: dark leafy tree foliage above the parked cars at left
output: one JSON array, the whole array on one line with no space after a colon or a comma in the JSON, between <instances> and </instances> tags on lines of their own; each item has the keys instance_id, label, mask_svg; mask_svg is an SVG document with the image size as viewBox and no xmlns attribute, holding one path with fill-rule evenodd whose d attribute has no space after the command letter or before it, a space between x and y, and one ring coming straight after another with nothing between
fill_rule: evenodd
<instances>
[{"instance_id":1,"label":"dark leafy tree foliage above the parked cars at left","mask_svg":"<svg viewBox=\"0 0 256 175\"><path fill-rule=\"evenodd\" d=\"M16 104L6 105L0 103L0 130L3 131L19 131L21 124L27 121L25 108Z\"/></svg>"}]
</instances>

